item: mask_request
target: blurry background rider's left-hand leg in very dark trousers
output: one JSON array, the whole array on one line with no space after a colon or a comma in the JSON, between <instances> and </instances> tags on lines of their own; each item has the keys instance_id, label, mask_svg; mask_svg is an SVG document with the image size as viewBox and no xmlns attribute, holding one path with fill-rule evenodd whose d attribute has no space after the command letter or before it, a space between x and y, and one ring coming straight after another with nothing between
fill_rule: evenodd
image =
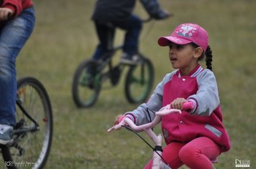
<instances>
[{"instance_id":1,"label":"blurry background rider's left-hand leg in very dark trousers","mask_svg":"<svg viewBox=\"0 0 256 169\"><path fill-rule=\"evenodd\" d=\"M94 22L96 33L99 39L99 44L93 54L93 59L101 59L106 52L111 49L111 45L114 41L114 28L110 28L106 24Z\"/></svg>"}]
</instances>

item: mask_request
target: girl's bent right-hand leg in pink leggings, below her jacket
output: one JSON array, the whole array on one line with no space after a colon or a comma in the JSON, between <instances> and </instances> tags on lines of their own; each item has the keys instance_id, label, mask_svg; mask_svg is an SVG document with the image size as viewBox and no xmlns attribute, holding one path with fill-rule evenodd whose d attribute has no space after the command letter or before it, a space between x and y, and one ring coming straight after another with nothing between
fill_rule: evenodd
<instances>
[{"instance_id":1,"label":"girl's bent right-hand leg in pink leggings, below her jacket","mask_svg":"<svg viewBox=\"0 0 256 169\"><path fill-rule=\"evenodd\" d=\"M221 153L219 145L208 137L198 137L180 149L180 160L189 168L212 168L210 159Z\"/></svg>"}]
</instances>

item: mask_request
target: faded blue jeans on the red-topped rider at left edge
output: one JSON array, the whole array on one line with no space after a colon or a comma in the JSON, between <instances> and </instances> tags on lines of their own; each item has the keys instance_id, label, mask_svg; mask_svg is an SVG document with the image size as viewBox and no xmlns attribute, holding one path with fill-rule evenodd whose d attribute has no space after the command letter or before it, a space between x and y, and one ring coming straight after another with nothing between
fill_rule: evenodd
<instances>
[{"instance_id":1,"label":"faded blue jeans on the red-topped rider at left edge","mask_svg":"<svg viewBox=\"0 0 256 169\"><path fill-rule=\"evenodd\" d=\"M35 25L34 8L24 9L0 29L0 124L15 125L16 58Z\"/></svg>"}]
</instances>

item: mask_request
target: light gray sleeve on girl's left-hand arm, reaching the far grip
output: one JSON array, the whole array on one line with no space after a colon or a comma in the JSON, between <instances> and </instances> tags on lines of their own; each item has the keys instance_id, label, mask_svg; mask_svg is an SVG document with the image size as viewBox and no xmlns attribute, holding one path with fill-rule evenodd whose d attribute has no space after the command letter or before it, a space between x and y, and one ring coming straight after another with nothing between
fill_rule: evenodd
<instances>
[{"instance_id":1,"label":"light gray sleeve on girl's left-hand arm, reaching the far grip","mask_svg":"<svg viewBox=\"0 0 256 169\"><path fill-rule=\"evenodd\" d=\"M163 80L159 84L157 84L157 87L155 87L155 91L150 96L150 99L147 101L147 103L143 103L142 105L137 107L137 109L133 110L132 112L126 112L124 115L131 118L136 125L142 125L150 122L150 120L152 121L155 117L155 114L152 111L155 112L162 108L163 87L172 76L173 72L170 74L166 74Z\"/></svg>"}]
</instances>

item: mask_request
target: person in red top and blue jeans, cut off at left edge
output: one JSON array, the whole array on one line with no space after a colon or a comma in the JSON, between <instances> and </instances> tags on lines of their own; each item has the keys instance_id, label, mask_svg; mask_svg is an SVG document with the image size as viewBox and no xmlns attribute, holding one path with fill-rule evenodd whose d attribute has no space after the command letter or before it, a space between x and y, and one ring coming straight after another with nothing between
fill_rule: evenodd
<instances>
[{"instance_id":1,"label":"person in red top and blue jeans, cut off at left edge","mask_svg":"<svg viewBox=\"0 0 256 169\"><path fill-rule=\"evenodd\" d=\"M32 0L0 1L0 144L12 141L17 79L15 61L35 24Z\"/></svg>"}]
</instances>

